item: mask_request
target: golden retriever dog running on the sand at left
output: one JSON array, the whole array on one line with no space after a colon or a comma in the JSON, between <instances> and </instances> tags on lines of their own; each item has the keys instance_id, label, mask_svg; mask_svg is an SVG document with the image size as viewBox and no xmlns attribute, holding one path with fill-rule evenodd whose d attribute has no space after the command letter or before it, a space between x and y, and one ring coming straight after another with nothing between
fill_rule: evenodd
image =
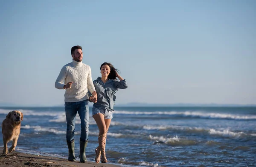
<instances>
[{"instance_id":1,"label":"golden retriever dog running on the sand at left","mask_svg":"<svg viewBox=\"0 0 256 167\"><path fill-rule=\"evenodd\" d=\"M3 133L3 153L7 154L7 143L12 140L12 147L9 148L11 153L15 150L17 140L20 135L20 124L23 120L23 113L14 110L8 113L6 119L2 122L2 133Z\"/></svg>"}]
</instances>

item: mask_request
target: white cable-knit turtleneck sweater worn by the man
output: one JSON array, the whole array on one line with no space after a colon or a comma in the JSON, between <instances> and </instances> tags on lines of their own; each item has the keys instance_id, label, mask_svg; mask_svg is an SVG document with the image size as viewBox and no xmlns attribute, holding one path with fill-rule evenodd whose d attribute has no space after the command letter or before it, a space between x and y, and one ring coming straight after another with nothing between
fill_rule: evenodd
<instances>
[{"instance_id":1,"label":"white cable-knit turtleneck sweater worn by the man","mask_svg":"<svg viewBox=\"0 0 256 167\"><path fill-rule=\"evenodd\" d=\"M55 88L64 89L67 82L72 82L71 88L67 88L64 94L65 102L80 102L88 99L90 93L95 91L89 65L82 62L73 62L64 65L55 82Z\"/></svg>"}]
</instances>

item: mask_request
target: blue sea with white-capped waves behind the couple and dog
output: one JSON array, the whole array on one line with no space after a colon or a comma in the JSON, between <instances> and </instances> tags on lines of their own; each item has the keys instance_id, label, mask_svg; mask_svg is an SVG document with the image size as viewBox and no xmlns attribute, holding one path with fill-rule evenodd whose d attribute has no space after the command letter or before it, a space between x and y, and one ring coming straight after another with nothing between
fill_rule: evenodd
<instances>
[{"instance_id":1,"label":"blue sea with white-capped waves behind the couple and dog","mask_svg":"<svg viewBox=\"0 0 256 167\"><path fill-rule=\"evenodd\" d=\"M88 161L95 159L99 134L91 109ZM108 163L123 167L256 167L256 107L114 109L106 145ZM20 110L24 116L17 152L67 159L64 106L2 107L0 122L12 110ZM79 124L77 114L77 161Z\"/></svg>"}]
</instances>

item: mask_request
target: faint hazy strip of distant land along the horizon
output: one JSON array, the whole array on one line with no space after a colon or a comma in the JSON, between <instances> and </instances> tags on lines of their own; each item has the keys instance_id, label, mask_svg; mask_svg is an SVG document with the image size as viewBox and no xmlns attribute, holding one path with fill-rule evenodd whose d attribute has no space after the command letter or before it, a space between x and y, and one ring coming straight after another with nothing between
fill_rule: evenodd
<instances>
[{"instance_id":1,"label":"faint hazy strip of distant land along the horizon","mask_svg":"<svg viewBox=\"0 0 256 167\"><path fill-rule=\"evenodd\" d=\"M89 103L92 106L93 103ZM175 104L148 104L148 103L138 103L131 102L126 104L116 104L116 107L256 107L256 104L191 104L191 103L175 103ZM12 103L0 103L0 107L64 107L64 104L55 106L44 106L44 105L17 105Z\"/></svg>"}]
</instances>

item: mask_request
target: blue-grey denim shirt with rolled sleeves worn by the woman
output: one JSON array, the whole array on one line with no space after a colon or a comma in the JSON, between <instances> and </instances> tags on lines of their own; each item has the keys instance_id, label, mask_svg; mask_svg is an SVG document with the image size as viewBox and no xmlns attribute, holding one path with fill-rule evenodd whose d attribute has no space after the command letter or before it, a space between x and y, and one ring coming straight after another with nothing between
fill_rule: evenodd
<instances>
[{"instance_id":1,"label":"blue-grey denim shirt with rolled sleeves worn by the woman","mask_svg":"<svg viewBox=\"0 0 256 167\"><path fill-rule=\"evenodd\" d=\"M128 88L125 80L109 79L106 83L103 83L100 77L93 81L93 85L98 96L97 102L93 104L93 107L110 108L112 110L116 102L116 91L118 91L118 88Z\"/></svg>"}]
</instances>

